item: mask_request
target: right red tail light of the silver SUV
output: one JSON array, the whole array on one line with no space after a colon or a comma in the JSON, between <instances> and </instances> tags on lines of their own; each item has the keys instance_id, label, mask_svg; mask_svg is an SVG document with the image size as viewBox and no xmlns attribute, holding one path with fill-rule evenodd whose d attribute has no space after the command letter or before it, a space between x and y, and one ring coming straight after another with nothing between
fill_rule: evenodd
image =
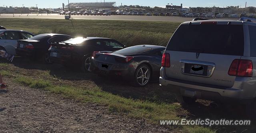
<instances>
[{"instance_id":1,"label":"right red tail light of the silver SUV","mask_svg":"<svg viewBox=\"0 0 256 133\"><path fill-rule=\"evenodd\" d=\"M228 70L228 75L237 77L252 77L253 66L251 60L233 60Z\"/></svg>"}]
</instances>

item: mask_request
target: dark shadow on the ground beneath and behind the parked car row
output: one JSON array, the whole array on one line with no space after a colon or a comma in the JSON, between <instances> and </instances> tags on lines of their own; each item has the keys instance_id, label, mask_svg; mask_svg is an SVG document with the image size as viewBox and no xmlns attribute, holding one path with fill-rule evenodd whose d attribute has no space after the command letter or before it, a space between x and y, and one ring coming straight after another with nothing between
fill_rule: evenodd
<instances>
[{"instance_id":1,"label":"dark shadow on the ground beneath and behind the parked car row","mask_svg":"<svg viewBox=\"0 0 256 133\"><path fill-rule=\"evenodd\" d=\"M161 89L158 82L151 82L146 87L133 87L130 82L119 78L119 77L98 77L93 73L83 73L78 68L68 69L59 64L46 65L40 62L31 62L27 59L15 58L12 62L14 66L23 69L33 69L33 70L43 70L50 71L50 75L53 77L60 78L69 82L80 81L81 86L86 86L86 82L92 82L103 91L112 93L114 95L120 95L129 99L140 99L148 100L156 103L174 103L176 102L174 96L168 92ZM171 89L171 88L170 88ZM250 119L246 117L244 106L228 104L213 104L212 101L197 100L195 103L188 105L182 105L182 108L188 112L184 114L184 111L178 112L180 117L188 117L189 119ZM226 126L226 127L215 127L218 129L217 132L220 133L230 133L232 131L237 131L240 133L253 133L256 130L256 125L252 126Z\"/></svg>"}]
</instances>

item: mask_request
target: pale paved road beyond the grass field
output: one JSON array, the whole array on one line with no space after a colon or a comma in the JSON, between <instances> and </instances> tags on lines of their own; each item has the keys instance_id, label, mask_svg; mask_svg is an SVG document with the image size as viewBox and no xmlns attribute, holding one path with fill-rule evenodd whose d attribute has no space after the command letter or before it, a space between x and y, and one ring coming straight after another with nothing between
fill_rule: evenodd
<instances>
[{"instance_id":1,"label":"pale paved road beyond the grass field","mask_svg":"<svg viewBox=\"0 0 256 133\"><path fill-rule=\"evenodd\" d=\"M63 15L58 14L1 14L0 18L41 18L41 19L64 19ZM169 22L185 22L191 21L193 18L168 17L168 16L84 16L75 15L73 19L84 20L140 20L140 21L169 21Z\"/></svg>"}]
</instances>

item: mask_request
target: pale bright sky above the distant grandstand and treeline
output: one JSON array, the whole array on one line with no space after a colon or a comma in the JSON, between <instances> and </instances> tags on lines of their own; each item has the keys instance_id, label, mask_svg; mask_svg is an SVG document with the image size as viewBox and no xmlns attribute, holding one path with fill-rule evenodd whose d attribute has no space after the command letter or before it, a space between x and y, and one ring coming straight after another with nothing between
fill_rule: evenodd
<instances>
[{"instance_id":1,"label":"pale bright sky above the distant grandstand and treeline","mask_svg":"<svg viewBox=\"0 0 256 133\"><path fill-rule=\"evenodd\" d=\"M98 0L98 2L104 2L104 0ZM180 5L184 7L226 7L226 6L247 6L256 7L256 0L105 0L106 2L116 1L116 6L123 5L140 5L140 6L160 6L165 7L166 4ZM97 0L69 0L69 2L97 2ZM18 6L25 7L36 6L39 8L59 8L62 7L62 3L68 4L68 0L1 0L0 6Z\"/></svg>"}]
</instances>

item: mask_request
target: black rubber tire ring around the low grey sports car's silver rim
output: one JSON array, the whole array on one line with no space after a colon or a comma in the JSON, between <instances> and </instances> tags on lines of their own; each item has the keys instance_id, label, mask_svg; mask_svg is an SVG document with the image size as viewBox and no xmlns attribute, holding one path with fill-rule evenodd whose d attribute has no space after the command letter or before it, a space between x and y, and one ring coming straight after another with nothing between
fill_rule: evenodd
<instances>
[{"instance_id":1,"label":"black rubber tire ring around the low grey sports car's silver rim","mask_svg":"<svg viewBox=\"0 0 256 133\"><path fill-rule=\"evenodd\" d=\"M141 85L140 83L138 83L138 80L137 80L138 71L139 71L142 67L146 67L146 68L148 69L148 72L149 72L149 79L148 79L148 82L147 82L146 84L144 84L144 85ZM141 64L140 66L137 67L137 69L136 69L136 71L135 71L135 73L134 73L133 85L134 85L135 87L145 87L146 85L148 85L148 83L150 83L151 77L152 77L152 70L151 70L151 68L150 68L148 65L146 65L146 64Z\"/></svg>"}]
</instances>

